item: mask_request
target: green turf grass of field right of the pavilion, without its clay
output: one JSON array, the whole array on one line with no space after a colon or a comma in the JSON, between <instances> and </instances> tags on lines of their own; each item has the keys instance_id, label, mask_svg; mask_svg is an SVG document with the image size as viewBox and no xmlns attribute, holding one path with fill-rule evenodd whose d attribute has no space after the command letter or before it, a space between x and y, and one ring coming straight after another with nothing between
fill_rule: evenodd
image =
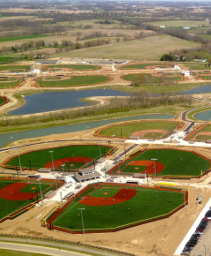
<instances>
[{"instance_id":1,"label":"green turf grass of field right of the pavilion, without its clay","mask_svg":"<svg viewBox=\"0 0 211 256\"><path fill-rule=\"evenodd\" d=\"M126 165L129 162L151 160L153 158L157 159L156 162L161 162L164 164L164 169L158 172L156 174L157 176L194 177L199 176L201 171L205 172L207 169L210 169L210 162L207 159L190 151L176 149L148 149L145 152L134 155L126 162L121 162L120 171L121 169L124 169L125 171ZM128 168L131 169L130 166L128 166ZM137 170L134 171L134 173L137 172ZM113 170L113 173L118 174L119 168L116 167L116 169ZM154 177L154 174L149 174L149 176Z\"/></svg>"}]
</instances>

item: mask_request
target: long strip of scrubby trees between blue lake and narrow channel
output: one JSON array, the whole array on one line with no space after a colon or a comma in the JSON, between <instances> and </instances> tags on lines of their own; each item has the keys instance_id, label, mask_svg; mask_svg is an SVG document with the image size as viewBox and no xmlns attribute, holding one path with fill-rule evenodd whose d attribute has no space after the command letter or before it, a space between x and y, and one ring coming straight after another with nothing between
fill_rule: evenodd
<instances>
[{"instance_id":1,"label":"long strip of scrubby trees between blue lake and narrow channel","mask_svg":"<svg viewBox=\"0 0 211 256\"><path fill-rule=\"evenodd\" d=\"M136 92L132 96L128 97L114 97L109 104L100 106L90 106L79 109L67 109L52 112L50 114L43 114L40 117L27 117L21 118L16 117L11 119L10 117L5 117L0 122L0 127L6 126L18 126L18 125L28 125L28 124L39 124L55 122L59 120L70 120L72 118L79 117L91 117L111 113L121 113L127 112L134 109L150 109L156 108L158 106L166 105L178 105L178 104L188 104L190 105L192 98L188 95L161 95L159 97L152 97L151 94L142 90Z\"/></svg>"}]
</instances>

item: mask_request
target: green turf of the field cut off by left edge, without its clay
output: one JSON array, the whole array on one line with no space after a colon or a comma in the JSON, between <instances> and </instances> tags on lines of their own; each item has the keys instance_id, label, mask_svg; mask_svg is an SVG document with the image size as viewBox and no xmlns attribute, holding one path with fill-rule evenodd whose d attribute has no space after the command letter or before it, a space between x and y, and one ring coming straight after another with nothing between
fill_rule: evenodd
<instances>
[{"instance_id":1,"label":"green turf of the field cut off by left edge, without its clay","mask_svg":"<svg viewBox=\"0 0 211 256\"><path fill-rule=\"evenodd\" d=\"M11 215L11 213L17 212L19 209L33 203L37 200L37 194L38 192L38 198L40 199L40 186L42 190L42 194L44 195L49 190L56 189L56 186L50 186L52 182L47 181L40 181L38 183L37 181L31 181L32 184L28 184L24 189L21 190L21 192L30 192L33 193L32 200L4 200L1 198L1 189L3 189L5 186L10 184L18 184L18 182L25 182L27 183L27 180L4 180L0 179L0 220L4 219L7 215ZM61 183L57 184L59 187ZM33 187L36 187L36 189L32 190Z\"/></svg>"}]
</instances>

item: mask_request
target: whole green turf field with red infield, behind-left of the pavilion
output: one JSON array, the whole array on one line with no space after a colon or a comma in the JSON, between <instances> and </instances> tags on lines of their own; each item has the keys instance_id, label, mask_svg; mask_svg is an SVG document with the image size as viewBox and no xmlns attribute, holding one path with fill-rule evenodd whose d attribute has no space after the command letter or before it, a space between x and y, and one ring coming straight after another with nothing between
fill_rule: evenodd
<instances>
[{"instance_id":1,"label":"whole green turf field with red infield, behind-left of the pavilion","mask_svg":"<svg viewBox=\"0 0 211 256\"><path fill-rule=\"evenodd\" d=\"M98 146L98 145L79 145L67 147L55 147L51 149L37 150L29 153L21 154L21 166L24 169L40 169L40 168L53 168L52 158L49 151L54 151L53 161L55 170L71 171L78 169L84 165L96 162L98 158L104 156L113 147ZM30 165L31 164L31 165ZM64 169L62 164L65 164ZM5 167L19 168L18 155L10 158L7 162L3 163Z\"/></svg>"}]
</instances>

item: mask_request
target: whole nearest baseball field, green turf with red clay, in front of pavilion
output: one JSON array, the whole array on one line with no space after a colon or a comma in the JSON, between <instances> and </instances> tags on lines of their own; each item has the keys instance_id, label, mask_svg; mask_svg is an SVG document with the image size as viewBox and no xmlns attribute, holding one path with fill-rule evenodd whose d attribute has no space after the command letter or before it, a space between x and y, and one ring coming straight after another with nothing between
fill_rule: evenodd
<instances>
[{"instance_id":1,"label":"whole nearest baseball field, green turf with red clay, in front of pavilion","mask_svg":"<svg viewBox=\"0 0 211 256\"><path fill-rule=\"evenodd\" d=\"M51 215L47 227L69 233L113 232L169 217L185 200L187 204L188 192L181 190L92 184Z\"/></svg>"}]
</instances>

